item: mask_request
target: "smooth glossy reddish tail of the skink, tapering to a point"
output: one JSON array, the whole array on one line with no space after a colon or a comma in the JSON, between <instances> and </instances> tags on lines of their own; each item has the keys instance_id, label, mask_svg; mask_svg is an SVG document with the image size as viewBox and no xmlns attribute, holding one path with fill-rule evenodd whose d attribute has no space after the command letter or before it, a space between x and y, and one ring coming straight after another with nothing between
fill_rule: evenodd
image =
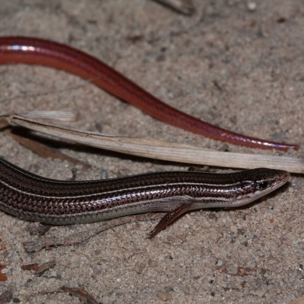
<instances>
[{"instance_id":1,"label":"smooth glossy reddish tail of the skink, tapering to a point","mask_svg":"<svg viewBox=\"0 0 304 304\"><path fill-rule=\"evenodd\" d=\"M7 63L46 65L79 75L163 122L210 138L248 147L298 149L294 144L237 134L189 116L160 101L100 60L59 43L30 37L0 37L0 64Z\"/></svg>"}]
</instances>

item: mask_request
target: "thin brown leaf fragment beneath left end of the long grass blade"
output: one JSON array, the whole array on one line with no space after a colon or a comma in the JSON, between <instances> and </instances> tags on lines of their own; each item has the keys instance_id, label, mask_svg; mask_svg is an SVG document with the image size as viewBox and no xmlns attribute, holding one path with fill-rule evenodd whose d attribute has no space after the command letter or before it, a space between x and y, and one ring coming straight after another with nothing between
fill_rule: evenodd
<instances>
[{"instance_id":1,"label":"thin brown leaf fragment beneath left end of the long grass blade","mask_svg":"<svg viewBox=\"0 0 304 304\"><path fill-rule=\"evenodd\" d=\"M7 129L6 133L11 136L13 139L15 139L19 144L23 145L24 147L31 150L33 153L44 157L44 158L51 158L51 159L59 159L61 161L67 161L69 163L72 163L73 165L82 165L85 170L88 170L91 168L90 165L88 165L85 162L79 161L77 159L74 159L72 157L67 156L66 154L61 153L60 151L35 140L32 140L27 137L20 136L11 130Z\"/></svg>"}]
</instances>

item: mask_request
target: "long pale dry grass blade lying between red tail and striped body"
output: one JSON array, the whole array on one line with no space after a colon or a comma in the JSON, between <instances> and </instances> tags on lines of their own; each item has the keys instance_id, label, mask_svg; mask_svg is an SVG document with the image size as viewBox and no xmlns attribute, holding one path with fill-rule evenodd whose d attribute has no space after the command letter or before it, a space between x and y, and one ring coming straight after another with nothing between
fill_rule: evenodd
<instances>
[{"instance_id":1,"label":"long pale dry grass blade lying between red tail and striped body","mask_svg":"<svg viewBox=\"0 0 304 304\"><path fill-rule=\"evenodd\" d=\"M222 152L156 139L108 136L56 126L19 115L11 116L10 123L72 142L140 157L230 168L268 167L293 173L304 173L304 161L299 158Z\"/></svg>"}]
</instances>

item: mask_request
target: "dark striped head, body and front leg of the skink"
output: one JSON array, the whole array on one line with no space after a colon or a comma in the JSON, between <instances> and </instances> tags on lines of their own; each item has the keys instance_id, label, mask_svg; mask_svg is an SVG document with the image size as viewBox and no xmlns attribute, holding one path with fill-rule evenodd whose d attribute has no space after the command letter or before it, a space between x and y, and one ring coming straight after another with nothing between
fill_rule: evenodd
<instances>
[{"instance_id":1,"label":"dark striped head, body and front leg of the skink","mask_svg":"<svg viewBox=\"0 0 304 304\"><path fill-rule=\"evenodd\" d=\"M47 224L88 223L145 212L167 212L154 237L188 210L238 207L289 180L282 170L235 173L155 172L124 178L63 181L34 175L0 159L0 210Z\"/></svg>"}]
</instances>

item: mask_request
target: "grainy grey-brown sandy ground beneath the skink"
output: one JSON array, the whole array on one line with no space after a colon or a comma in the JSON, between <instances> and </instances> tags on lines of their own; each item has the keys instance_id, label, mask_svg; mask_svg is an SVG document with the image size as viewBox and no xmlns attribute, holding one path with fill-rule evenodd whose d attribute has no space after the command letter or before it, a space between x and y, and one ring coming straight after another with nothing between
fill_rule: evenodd
<instances>
[{"instance_id":1,"label":"grainy grey-brown sandy ground beneath the skink","mask_svg":"<svg viewBox=\"0 0 304 304\"><path fill-rule=\"evenodd\" d=\"M304 3L254 4L250 10L246 1L196 0L189 18L147 0L3 1L0 34L86 51L176 108L247 135L299 143L297 153L287 154L303 156ZM68 109L78 116L76 128L283 155L166 125L62 71L6 65L0 75L2 112ZM0 133L2 157L51 178L188 168L73 145L60 150L91 168L37 156ZM102 233L96 232L100 223L54 226L40 237L39 224L0 212L0 301L78 303L86 291L105 304L289 303L304 293L302 185L303 178L292 175L288 186L248 208L186 214L154 240L146 232L156 221ZM89 232L79 244L35 252L24 245ZM21 269L32 263L46 270Z\"/></svg>"}]
</instances>

